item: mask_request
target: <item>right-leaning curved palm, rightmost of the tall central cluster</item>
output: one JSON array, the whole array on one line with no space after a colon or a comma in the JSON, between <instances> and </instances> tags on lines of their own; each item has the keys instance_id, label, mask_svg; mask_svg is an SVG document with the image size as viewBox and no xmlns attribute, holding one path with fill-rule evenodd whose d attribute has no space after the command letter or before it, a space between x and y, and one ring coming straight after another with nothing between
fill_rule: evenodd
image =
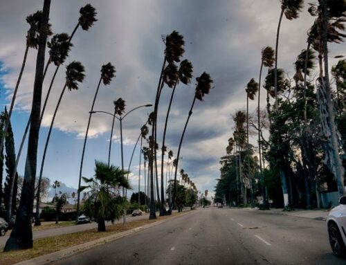
<instances>
[{"instance_id":1,"label":"right-leaning curved palm, rightmost of the tall central cluster","mask_svg":"<svg viewBox=\"0 0 346 265\"><path fill-rule=\"evenodd\" d=\"M186 128L188 127L188 122L189 122L190 117L192 115L192 109L194 107L194 102L196 102L196 100L203 101L204 96L207 95L211 89L212 80L210 79L210 75L208 73L206 73L206 72L202 73L200 77L196 78L196 80L197 80L197 85L196 85L196 89L194 91L194 99L192 100L191 108L190 108L190 111L188 114L188 119L185 122L183 133L181 134L181 138L180 138L178 152L176 154L176 166L175 166L175 172L174 172L174 190L173 190L172 203L170 205L169 213L172 213L172 205L174 205L174 199L176 197L176 173L178 171L178 166L179 166L180 150L181 150L181 145L183 144L183 138L184 138Z\"/></svg>"}]
</instances>

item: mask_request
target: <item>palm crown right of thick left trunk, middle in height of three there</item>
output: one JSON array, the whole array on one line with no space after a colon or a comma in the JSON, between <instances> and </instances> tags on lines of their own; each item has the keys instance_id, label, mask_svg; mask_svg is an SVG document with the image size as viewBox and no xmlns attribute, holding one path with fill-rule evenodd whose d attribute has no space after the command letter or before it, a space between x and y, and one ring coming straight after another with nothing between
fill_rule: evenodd
<instances>
[{"instance_id":1,"label":"palm crown right of thick left trunk, middle in height of three there","mask_svg":"<svg viewBox=\"0 0 346 265\"><path fill-rule=\"evenodd\" d=\"M69 51L73 44L69 41L70 36L67 33L55 34L50 42L47 42L49 50L49 60L59 66L64 64L66 57L69 56Z\"/></svg>"}]
</instances>

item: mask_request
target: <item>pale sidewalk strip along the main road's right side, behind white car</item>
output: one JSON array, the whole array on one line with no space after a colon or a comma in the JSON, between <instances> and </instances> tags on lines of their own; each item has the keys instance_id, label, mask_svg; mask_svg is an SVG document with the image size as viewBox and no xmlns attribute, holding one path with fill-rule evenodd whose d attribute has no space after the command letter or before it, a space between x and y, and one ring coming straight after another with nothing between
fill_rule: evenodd
<instances>
[{"instance_id":1,"label":"pale sidewalk strip along the main road's right side, behind white car","mask_svg":"<svg viewBox=\"0 0 346 265\"><path fill-rule=\"evenodd\" d=\"M301 210L284 211L283 208L271 208L271 210L259 210L258 208L246 208L244 210L256 210L266 214L282 214L282 215L287 215L291 217L300 217L300 218L314 219L314 220L320 220L320 221L326 221L327 216L329 214L329 210L327 209L323 209L323 210L302 210L301 209Z\"/></svg>"}]
</instances>

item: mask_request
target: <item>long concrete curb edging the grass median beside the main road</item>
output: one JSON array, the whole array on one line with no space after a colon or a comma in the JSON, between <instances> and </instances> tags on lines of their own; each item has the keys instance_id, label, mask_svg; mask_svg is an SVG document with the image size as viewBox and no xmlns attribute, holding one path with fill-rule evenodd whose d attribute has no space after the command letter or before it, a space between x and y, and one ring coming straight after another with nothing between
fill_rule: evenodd
<instances>
[{"instance_id":1,"label":"long concrete curb edging the grass median beside the main road","mask_svg":"<svg viewBox=\"0 0 346 265\"><path fill-rule=\"evenodd\" d=\"M59 259L69 257L71 255L83 252L83 251L88 250L90 248L95 248L96 246L100 246L102 244L105 244L105 243L108 243L111 241L115 241L115 240L120 239L122 237L127 237L128 235L132 235L136 232L146 230L146 229L151 228L153 226L158 226L161 223L165 223L166 221L170 221L172 219L176 219L178 217L182 217L182 216L185 216L187 214L191 214L192 212L197 212L197 211L190 210L188 212L185 212L183 214L179 214L178 216L175 216L172 218L163 219L161 221L156 221L154 223L148 223L147 225L138 226L137 228L133 228L133 229L130 229L130 230L127 230L124 232L119 232L119 233L114 234L114 235L109 235L107 237L101 237L100 239L96 239L94 241L89 241L89 242L86 242L86 243L83 243L80 245L71 246L69 248L59 250L57 252L42 255L39 257L34 257L33 259L27 259L27 260L24 260L23 262L16 263L15 265L42 265L42 264L49 264L51 262L56 262Z\"/></svg>"}]
</instances>

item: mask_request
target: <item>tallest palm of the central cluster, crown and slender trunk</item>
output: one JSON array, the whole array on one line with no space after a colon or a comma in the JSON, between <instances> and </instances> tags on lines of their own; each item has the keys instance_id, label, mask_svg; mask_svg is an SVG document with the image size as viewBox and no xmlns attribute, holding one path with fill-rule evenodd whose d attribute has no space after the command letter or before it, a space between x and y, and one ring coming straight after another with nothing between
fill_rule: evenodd
<instances>
[{"instance_id":1,"label":"tallest palm of the central cluster, crown and slender trunk","mask_svg":"<svg viewBox=\"0 0 346 265\"><path fill-rule=\"evenodd\" d=\"M156 163L156 120L157 120L157 111L158 111L158 102L160 100L161 91L163 88L163 71L165 69L165 64L168 62L169 64L172 64L174 62L180 62L180 58L185 52L184 50L184 40L183 36L180 35L177 31L173 31L170 35L167 35L165 37L165 57L163 58L163 65L161 68L161 74L158 80L158 87L156 90L156 98L155 98L155 104L154 104L154 122L152 125L152 140L149 142L149 148L150 153L149 154L149 167L150 167L150 188L154 188L154 161L155 161L155 169L156 169L156 178L157 175L157 163ZM152 159L150 156L153 156ZM155 201L154 196L151 197L150 200L150 215L149 219L156 219L156 213L155 213Z\"/></svg>"}]
</instances>

